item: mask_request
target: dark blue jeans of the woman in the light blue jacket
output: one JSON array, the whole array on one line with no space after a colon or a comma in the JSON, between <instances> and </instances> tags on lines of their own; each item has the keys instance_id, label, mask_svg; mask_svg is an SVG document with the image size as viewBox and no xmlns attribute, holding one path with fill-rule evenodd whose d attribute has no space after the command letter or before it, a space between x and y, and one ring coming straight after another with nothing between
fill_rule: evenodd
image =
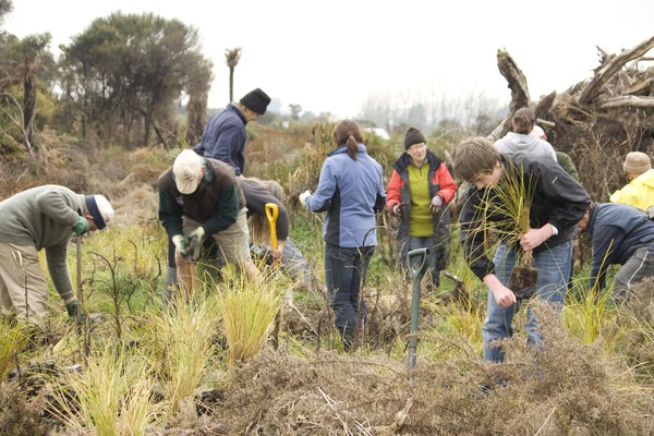
<instances>
[{"instance_id":1,"label":"dark blue jeans of the woman in the light blue jacket","mask_svg":"<svg viewBox=\"0 0 654 436\"><path fill-rule=\"evenodd\" d=\"M365 320L365 302L361 299L359 306L359 292L374 253L374 246L349 249L325 244L327 295L334 310L334 324L346 348L351 344L356 320Z\"/></svg>"}]
</instances>

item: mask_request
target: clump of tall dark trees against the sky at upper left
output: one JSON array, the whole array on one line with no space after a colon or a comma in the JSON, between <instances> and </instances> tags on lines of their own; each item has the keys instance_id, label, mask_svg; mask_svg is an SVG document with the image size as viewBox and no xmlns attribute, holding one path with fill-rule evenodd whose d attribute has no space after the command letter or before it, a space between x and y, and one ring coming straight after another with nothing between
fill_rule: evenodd
<instances>
[{"instance_id":1,"label":"clump of tall dark trees against the sky at upper left","mask_svg":"<svg viewBox=\"0 0 654 436\"><path fill-rule=\"evenodd\" d=\"M11 0L0 0L0 25L12 10ZM153 135L194 142L202 133L213 63L195 28L117 12L60 46L58 60L50 43L50 34L0 33L0 155L19 144L33 156L35 128L45 125L125 146L147 145ZM185 130L175 120L181 101Z\"/></svg>"}]
</instances>

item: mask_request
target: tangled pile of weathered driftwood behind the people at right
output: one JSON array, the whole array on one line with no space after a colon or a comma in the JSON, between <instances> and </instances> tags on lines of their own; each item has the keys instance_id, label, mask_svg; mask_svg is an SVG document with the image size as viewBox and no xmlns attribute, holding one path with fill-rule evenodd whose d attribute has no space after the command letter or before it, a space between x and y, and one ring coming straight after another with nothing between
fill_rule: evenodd
<instances>
[{"instance_id":1,"label":"tangled pile of weathered driftwood behind the people at right","mask_svg":"<svg viewBox=\"0 0 654 436\"><path fill-rule=\"evenodd\" d=\"M572 157L591 198L608 201L627 180L622 161L629 152L654 155L654 37L608 55L601 48L592 78L532 101L526 77L510 55L497 52L500 73L511 89L508 117L491 140L504 136L516 110L531 107L548 141Z\"/></svg>"}]
</instances>

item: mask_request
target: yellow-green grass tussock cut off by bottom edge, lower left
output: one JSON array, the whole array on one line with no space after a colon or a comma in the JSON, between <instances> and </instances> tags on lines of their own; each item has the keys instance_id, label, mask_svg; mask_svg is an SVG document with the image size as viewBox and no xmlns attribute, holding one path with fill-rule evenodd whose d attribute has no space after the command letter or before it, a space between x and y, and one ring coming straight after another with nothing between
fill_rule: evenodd
<instances>
[{"instance_id":1,"label":"yellow-green grass tussock cut off by bottom edge, lower left","mask_svg":"<svg viewBox=\"0 0 654 436\"><path fill-rule=\"evenodd\" d=\"M80 373L50 382L48 411L69 429L97 436L140 436L159 412L143 359L108 344Z\"/></svg>"}]
</instances>

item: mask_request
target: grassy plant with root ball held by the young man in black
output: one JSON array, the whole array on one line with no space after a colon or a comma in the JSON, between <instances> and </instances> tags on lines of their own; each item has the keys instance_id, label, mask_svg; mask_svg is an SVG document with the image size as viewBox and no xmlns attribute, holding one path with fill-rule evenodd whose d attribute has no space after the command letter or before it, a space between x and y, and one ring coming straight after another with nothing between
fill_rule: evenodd
<instances>
[{"instance_id":1,"label":"grassy plant with root ball held by the young man in black","mask_svg":"<svg viewBox=\"0 0 654 436\"><path fill-rule=\"evenodd\" d=\"M519 247L520 237L530 230L533 183L531 175L525 179L521 166L510 161L497 184L486 190L480 206L485 211L483 231L493 229L508 246L518 246L509 286L516 290L536 284L537 278L532 252Z\"/></svg>"}]
</instances>

